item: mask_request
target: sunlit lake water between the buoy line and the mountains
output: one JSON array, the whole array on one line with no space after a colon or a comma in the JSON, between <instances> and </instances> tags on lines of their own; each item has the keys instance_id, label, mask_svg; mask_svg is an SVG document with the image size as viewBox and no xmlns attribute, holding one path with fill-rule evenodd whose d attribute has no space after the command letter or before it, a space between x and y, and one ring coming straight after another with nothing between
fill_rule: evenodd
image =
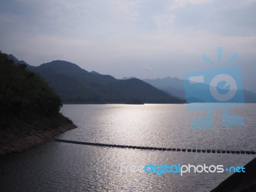
<instances>
[{"instance_id":1,"label":"sunlit lake water between the buoy line and the mountains","mask_svg":"<svg viewBox=\"0 0 256 192\"><path fill-rule=\"evenodd\" d=\"M62 111L78 125L72 134L63 134L62 139L120 145L255 150L256 141L252 137L255 135L255 104L231 108L231 113L244 117L244 127L222 127L221 111L214 111L214 125L210 130L191 129L193 118L205 113L189 113L185 104L65 105Z\"/></svg>"}]
</instances>

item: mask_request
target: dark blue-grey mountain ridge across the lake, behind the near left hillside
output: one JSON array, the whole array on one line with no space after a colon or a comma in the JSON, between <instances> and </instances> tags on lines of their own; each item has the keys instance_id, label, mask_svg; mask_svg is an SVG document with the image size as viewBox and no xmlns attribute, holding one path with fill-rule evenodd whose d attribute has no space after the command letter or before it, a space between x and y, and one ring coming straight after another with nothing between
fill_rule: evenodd
<instances>
[{"instance_id":1,"label":"dark blue-grey mountain ridge across the lake, behind the near left hillside","mask_svg":"<svg viewBox=\"0 0 256 192\"><path fill-rule=\"evenodd\" d=\"M66 104L185 102L140 79L115 79L113 76L102 75L95 71L88 72L68 61L56 60L33 67L12 55L9 55L9 58L15 63L26 65L28 70L40 74Z\"/></svg>"}]
</instances>

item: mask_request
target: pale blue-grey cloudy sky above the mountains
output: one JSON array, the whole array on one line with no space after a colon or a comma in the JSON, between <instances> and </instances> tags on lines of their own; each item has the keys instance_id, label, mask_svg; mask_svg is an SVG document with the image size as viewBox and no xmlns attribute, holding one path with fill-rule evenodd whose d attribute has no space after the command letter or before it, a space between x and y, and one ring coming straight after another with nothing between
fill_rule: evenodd
<instances>
[{"instance_id":1,"label":"pale blue-grey cloudy sky above the mountains","mask_svg":"<svg viewBox=\"0 0 256 192\"><path fill-rule=\"evenodd\" d=\"M0 50L29 65L52 60L116 78L182 78L240 66L256 92L256 0L0 0Z\"/></svg>"}]
</instances>

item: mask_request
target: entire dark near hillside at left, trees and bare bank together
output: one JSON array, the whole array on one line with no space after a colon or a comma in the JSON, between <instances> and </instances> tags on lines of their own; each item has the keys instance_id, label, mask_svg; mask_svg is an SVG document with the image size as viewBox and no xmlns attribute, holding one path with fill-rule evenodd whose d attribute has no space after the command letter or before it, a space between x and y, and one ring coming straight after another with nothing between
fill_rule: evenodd
<instances>
[{"instance_id":1,"label":"entire dark near hillside at left, trees and bare bank together","mask_svg":"<svg viewBox=\"0 0 256 192\"><path fill-rule=\"evenodd\" d=\"M42 78L0 52L0 154L24 150L74 129Z\"/></svg>"}]
</instances>

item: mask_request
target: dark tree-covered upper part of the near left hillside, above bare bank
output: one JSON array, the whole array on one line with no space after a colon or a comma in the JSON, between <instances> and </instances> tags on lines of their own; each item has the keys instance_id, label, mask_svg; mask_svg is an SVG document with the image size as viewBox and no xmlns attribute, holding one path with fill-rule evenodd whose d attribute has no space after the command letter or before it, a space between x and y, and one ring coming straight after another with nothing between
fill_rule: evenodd
<instances>
[{"instance_id":1,"label":"dark tree-covered upper part of the near left hillside, above bare bank","mask_svg":"<svg viewBox=\"0 0 256 192\"><path fill-rule=\"evenodd\" d=\"M0 52L0 114L19 116L26 113L51 115L61 107L60 97L55 95L41 77L29 72L26 65L15 65L17 61L8 59Z\"/></svg>"}]
</instances>

